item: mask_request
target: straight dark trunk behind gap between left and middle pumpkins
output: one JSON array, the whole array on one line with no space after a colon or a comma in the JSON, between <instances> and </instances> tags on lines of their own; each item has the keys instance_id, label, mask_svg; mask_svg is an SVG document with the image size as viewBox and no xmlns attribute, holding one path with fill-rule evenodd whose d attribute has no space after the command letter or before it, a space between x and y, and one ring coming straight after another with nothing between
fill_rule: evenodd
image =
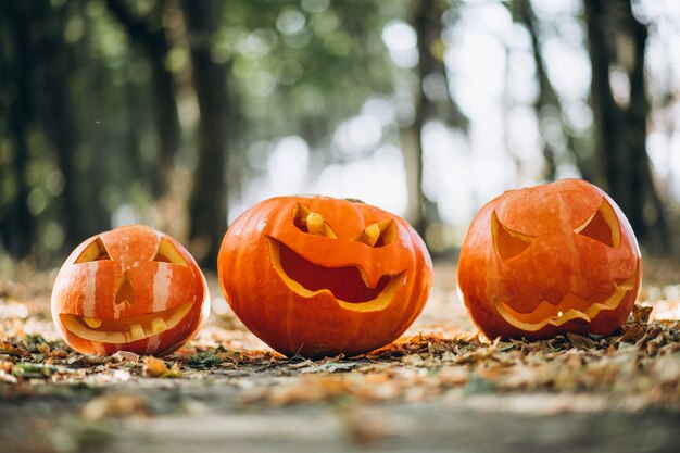
<instances>
[{"instance_id":1,"label":"straight dark trunk behind gap between left and middle pumpkins","mask_svg":"<svg viewBox=\"0 0 680 453\"><path fill-rule=\"evenodd\" d=\"M185 0L182 3L193 86L201 114L198 140L199 161L189 198L189 235L201 263L215 267L222 236L227 225L227 166L230 128L227 93L228 65L211 58L211 42L217 30L219 2Z\"/></svg>"}]
</instances>

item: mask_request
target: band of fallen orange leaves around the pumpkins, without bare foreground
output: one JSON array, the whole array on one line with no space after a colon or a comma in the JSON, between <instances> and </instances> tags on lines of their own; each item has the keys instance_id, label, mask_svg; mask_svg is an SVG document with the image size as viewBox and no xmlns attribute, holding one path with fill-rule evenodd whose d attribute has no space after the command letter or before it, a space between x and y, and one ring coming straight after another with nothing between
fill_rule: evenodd
<instances>
[{"instance_id":1,"label":"band of fallen orange leaves around the pumpkins, without bare foreground","mask_svg":"<svg viewBox=\"0 0 680 453\"><path fill-rule=\"evenodd\" d=\"M451 267L443 272L453 275ZM77 354L51 325L49 284L30 289L0 280L0 312L13 313L0 318L0 399L40 394L53 386L70 391L104 386L113 397L90 400L90 408L83 408L86 418L149 415L143 389L172 378L222 379L245 406L550 393L597 395L610 408L680 410L680 299L650 299L664 295L666 287L644 287L629 320L612 336L488 341L470 325L450 279L439 281L423 320L399 341L358 357L311 361L269 350L229 313L213 315L209 327L168 356ZM81 387L74 390L74 383ZM126 394L137 391L141 402L109 401L123 383Z\"/></svg>"}]
</instances>

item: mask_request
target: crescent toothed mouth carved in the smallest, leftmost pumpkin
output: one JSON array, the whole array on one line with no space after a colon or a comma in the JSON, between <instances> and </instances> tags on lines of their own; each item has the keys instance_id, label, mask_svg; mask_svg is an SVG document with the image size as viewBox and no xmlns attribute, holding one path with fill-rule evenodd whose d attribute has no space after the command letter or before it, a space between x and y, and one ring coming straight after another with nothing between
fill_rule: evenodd
<instances>
[{"instance_id":1,"label":"crescent toothed mouth carved in the smallest, leftmost pumpkin","mask_svg":"<svg viewBox=\"0 0 680 453\"><path fill-rule=\"evenodd\" d=\"M193 302L188 302L162 312L125 319L98 319L64 314L60 317L64 327L85 340L122 344L143 340L172 329L189 313L192 304Z\"/></svg>"}]
</instances>

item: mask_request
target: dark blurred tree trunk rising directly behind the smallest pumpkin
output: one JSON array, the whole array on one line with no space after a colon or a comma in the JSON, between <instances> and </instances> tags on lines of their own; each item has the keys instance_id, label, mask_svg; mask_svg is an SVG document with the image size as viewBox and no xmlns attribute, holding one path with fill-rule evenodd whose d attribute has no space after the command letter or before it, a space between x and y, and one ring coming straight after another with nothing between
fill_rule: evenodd
<instances>
[{"instance_id":1,"label":"dark blurred tree trunk rising directly behind the smallest pumpkin","mask_svg":"<svg viewBox=\"0 0 680 453\"><path fill-rule=\"evenodd\" d=\"M38 112L38 127L46 138L41 158L53 159L64 178L58 216L64 226L67 247L111 227L110 212L103 205L102 196L106 179L102 152L105 140L96 123L97 118L103 119L101 115L105 112L101 100L101 67L81 64L88 51L84 39L87 32L83 33L83 39L74 42L67 42L64 36L68 22L83 14L81 7L78 2L54 8L43 5L36 8L32 15L36 37L34 87L41 93L34 97L33 102ZM77 102L78 95L88 102ZM87 160L86 153L89 153Z\"/></svg>"}]
</instances>

